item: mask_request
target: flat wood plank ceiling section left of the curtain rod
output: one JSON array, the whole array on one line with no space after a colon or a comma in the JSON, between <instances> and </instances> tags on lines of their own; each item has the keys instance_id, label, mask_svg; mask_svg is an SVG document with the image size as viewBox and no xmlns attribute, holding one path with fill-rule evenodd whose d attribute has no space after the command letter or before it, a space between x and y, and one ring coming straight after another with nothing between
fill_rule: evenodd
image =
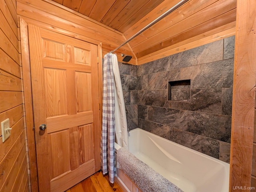
<instances>
[{"instance_id":1,"label":"flat wood plank ceiling section left of the curtain rod","mask_svg":"<svg viewBox=\"0 0 256 192\"><path fill-rule=\"evenodd\" d=\"M122 33L164 0L53 0Z\"/></svg>"}]
</instances>

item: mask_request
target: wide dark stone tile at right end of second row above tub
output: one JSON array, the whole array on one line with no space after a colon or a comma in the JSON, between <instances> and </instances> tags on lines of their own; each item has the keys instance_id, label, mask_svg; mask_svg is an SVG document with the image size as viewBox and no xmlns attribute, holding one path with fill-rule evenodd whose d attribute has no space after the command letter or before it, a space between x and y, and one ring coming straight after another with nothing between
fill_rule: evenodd
<instances>
[{"instance_id":1,"label":"wide dark stone tile at right end of second row above tub","mask_svg":"<svg viewBox=\"0 0 256 192\"><path fill-rule=\"evenodd\" d=\"M180 129L230 143L231 117L180 111Z\"/></svg>"}]
</instances>

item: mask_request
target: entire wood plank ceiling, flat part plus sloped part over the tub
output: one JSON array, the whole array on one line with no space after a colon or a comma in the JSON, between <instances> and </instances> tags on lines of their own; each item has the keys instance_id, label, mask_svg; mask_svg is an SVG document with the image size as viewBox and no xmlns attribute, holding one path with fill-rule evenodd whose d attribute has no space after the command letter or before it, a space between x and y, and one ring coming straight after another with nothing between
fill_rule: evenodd
<instances>
[{"instance_id":1,"label":"entire wood plank ceiling, flat part plus sloped part over the tub","mask_svg":"<svg viewBox=\"0 0 256 192\"><path fill-rule=\"evenodd\" d=\"M126 39L180 2L180 0L52 1L121 32ZM177 49L181 45L205 37L220 39L234 35L235 21L236 0L189 0L130 41L130 51L133 57L138 59L138 64L141 64L149 61L148 58L152 55ZM182 49L189 48L188 46ZM116 53L120 54L121 51L122 49ZM162 54L159 57L164 56ZM140 62L140 60L144 61Z\"/></svg>"}]
</instances>

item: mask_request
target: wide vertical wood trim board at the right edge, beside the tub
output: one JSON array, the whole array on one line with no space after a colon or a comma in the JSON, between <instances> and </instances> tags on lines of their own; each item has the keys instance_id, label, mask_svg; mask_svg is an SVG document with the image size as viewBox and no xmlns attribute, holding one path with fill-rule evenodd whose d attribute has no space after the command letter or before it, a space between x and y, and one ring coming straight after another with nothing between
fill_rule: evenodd
<instances>
[{"instance_id":1,"label":"wide vertical wood trim board at the right edge, beside the tub","mask_svg":"<svg viewBox=\"0 0 256 192\"><path fill-rule=\"evenodd\" d=\"M232 104L230 191L249 192L256 92L256 1L237 0Z\"/></svg>"}]
</instances>

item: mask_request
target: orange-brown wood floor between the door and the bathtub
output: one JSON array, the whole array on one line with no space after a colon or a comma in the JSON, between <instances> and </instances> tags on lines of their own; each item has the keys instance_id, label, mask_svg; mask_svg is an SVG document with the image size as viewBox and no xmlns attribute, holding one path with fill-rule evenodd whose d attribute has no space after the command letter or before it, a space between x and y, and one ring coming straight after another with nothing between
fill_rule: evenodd
<instances>
[{"instance_id":1,"label":"orange-brown wood floor between the door and the bathtub","mask_svg":"<svg viewBox=\"0 0 256 192\"><path fill-rule=\"evenodd\" d=\"M66 192L123 192L121 187L114 182L110 186L108 176L103 176L102 171L94 173L92 176L86 178L80 183L76 184Z\"/></svg>"}]
</instances>

